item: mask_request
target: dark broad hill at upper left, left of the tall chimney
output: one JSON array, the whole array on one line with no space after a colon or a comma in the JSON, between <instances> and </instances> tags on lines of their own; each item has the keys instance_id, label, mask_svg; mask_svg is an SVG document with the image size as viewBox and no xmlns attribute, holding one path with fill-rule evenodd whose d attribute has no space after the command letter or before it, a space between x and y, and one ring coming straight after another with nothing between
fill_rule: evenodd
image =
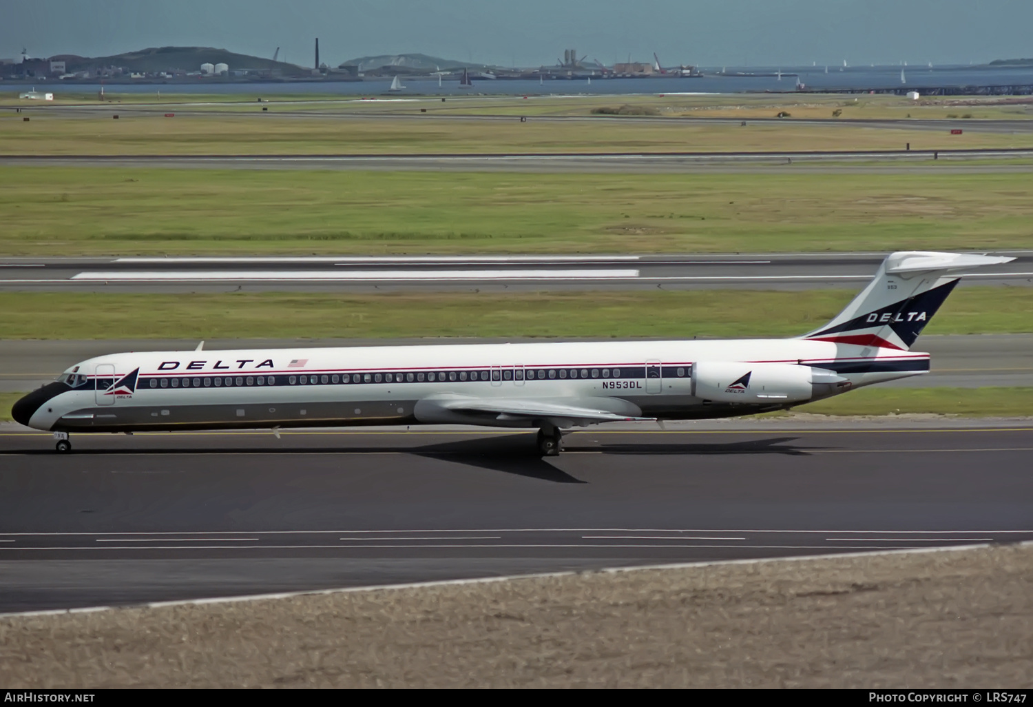
<instances>
[{"instance_id":1,"label":"dark broad hill at upper left, left of the tall chimney","mask_svg":"<svg viewBox=\"0 0 1033 707\"><path fill-rule=\"evenodd\" d=\"M174 69L197 71L205 63L224 63L230 69L269 69L285 74L308 71L308 69L303 69L294 64L252 57L247 54L237 54L212 47L152 47L138 52L126 52L109 57L64 55L51 57L51 59L64 60L68 71L93 70L105 66L123 66L130 71L145 72Z\"/></svg>"}]
</instances>

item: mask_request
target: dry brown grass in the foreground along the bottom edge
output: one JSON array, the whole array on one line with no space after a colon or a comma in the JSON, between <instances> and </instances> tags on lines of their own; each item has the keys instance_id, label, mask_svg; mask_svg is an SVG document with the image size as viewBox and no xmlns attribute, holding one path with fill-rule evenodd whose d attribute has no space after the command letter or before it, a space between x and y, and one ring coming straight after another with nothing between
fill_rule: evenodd
<instances>
[{"instance_id":1,"label":"dry brown grass in the foreground along the bottom edge","mask_svg":"<svg viewBox=\"0 0 1033 707\"><path fill-rule=\"evenodd\" d=\"M1033 686L1033 547L0 617L34 687Z\"/></svg>"}]
</instances>

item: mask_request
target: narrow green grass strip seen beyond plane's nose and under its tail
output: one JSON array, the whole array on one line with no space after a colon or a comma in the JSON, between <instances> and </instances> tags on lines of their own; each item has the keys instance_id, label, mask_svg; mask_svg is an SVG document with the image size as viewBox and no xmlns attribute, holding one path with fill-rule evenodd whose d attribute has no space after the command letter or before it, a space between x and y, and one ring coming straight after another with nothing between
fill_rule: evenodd
<instances>
[{"instance_id":1,"label":"narrow green grass strip seen beyond plane's nose and under its tail","mask_svg":"<svg viewBox=\"0 0 1033 707\"><path fill-rule=\"evenodd\" d=\"M23 395L0 393L0 422L11 420L10 406ZM1026 417L1033 416L1033 388L873 387L802 405L796 410L827 416L926 412L970 418Z\"/></svg>"}]
</instances>

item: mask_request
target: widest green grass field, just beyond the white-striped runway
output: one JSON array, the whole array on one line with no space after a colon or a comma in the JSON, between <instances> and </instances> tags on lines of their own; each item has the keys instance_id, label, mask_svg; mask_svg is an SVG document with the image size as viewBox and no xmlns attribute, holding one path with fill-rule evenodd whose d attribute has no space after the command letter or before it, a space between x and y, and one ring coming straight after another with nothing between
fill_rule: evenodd
<instances>
[{"instance_id":1,"label":"widest green grass field, just beyond the white-striped runway","mask_svg":"<svg viewBox=\"0 0 1033 707\"><path fill-rule=\"evenodd\" d=\"M0 167L0 255L1033 246L1033 174Z\"/></svg>"}]
</instances>

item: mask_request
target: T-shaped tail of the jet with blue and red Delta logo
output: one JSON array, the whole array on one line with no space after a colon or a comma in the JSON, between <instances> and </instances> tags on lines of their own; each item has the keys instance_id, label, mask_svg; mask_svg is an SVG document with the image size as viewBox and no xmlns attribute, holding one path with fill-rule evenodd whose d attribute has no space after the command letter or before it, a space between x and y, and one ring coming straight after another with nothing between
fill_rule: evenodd
<instances>
[{"instance_id":1,"label":"T-shaped tail of the jet with blue and red Delta logo","mask_svg":"<svg viewBox=\"0 0 1033 707\"><path fill-rule=\"evenodd\" d=\"M908 350L964 271L1013 259L970 253L890 253L846 309L802 338Z\"/></svg>"}]
</instances>

